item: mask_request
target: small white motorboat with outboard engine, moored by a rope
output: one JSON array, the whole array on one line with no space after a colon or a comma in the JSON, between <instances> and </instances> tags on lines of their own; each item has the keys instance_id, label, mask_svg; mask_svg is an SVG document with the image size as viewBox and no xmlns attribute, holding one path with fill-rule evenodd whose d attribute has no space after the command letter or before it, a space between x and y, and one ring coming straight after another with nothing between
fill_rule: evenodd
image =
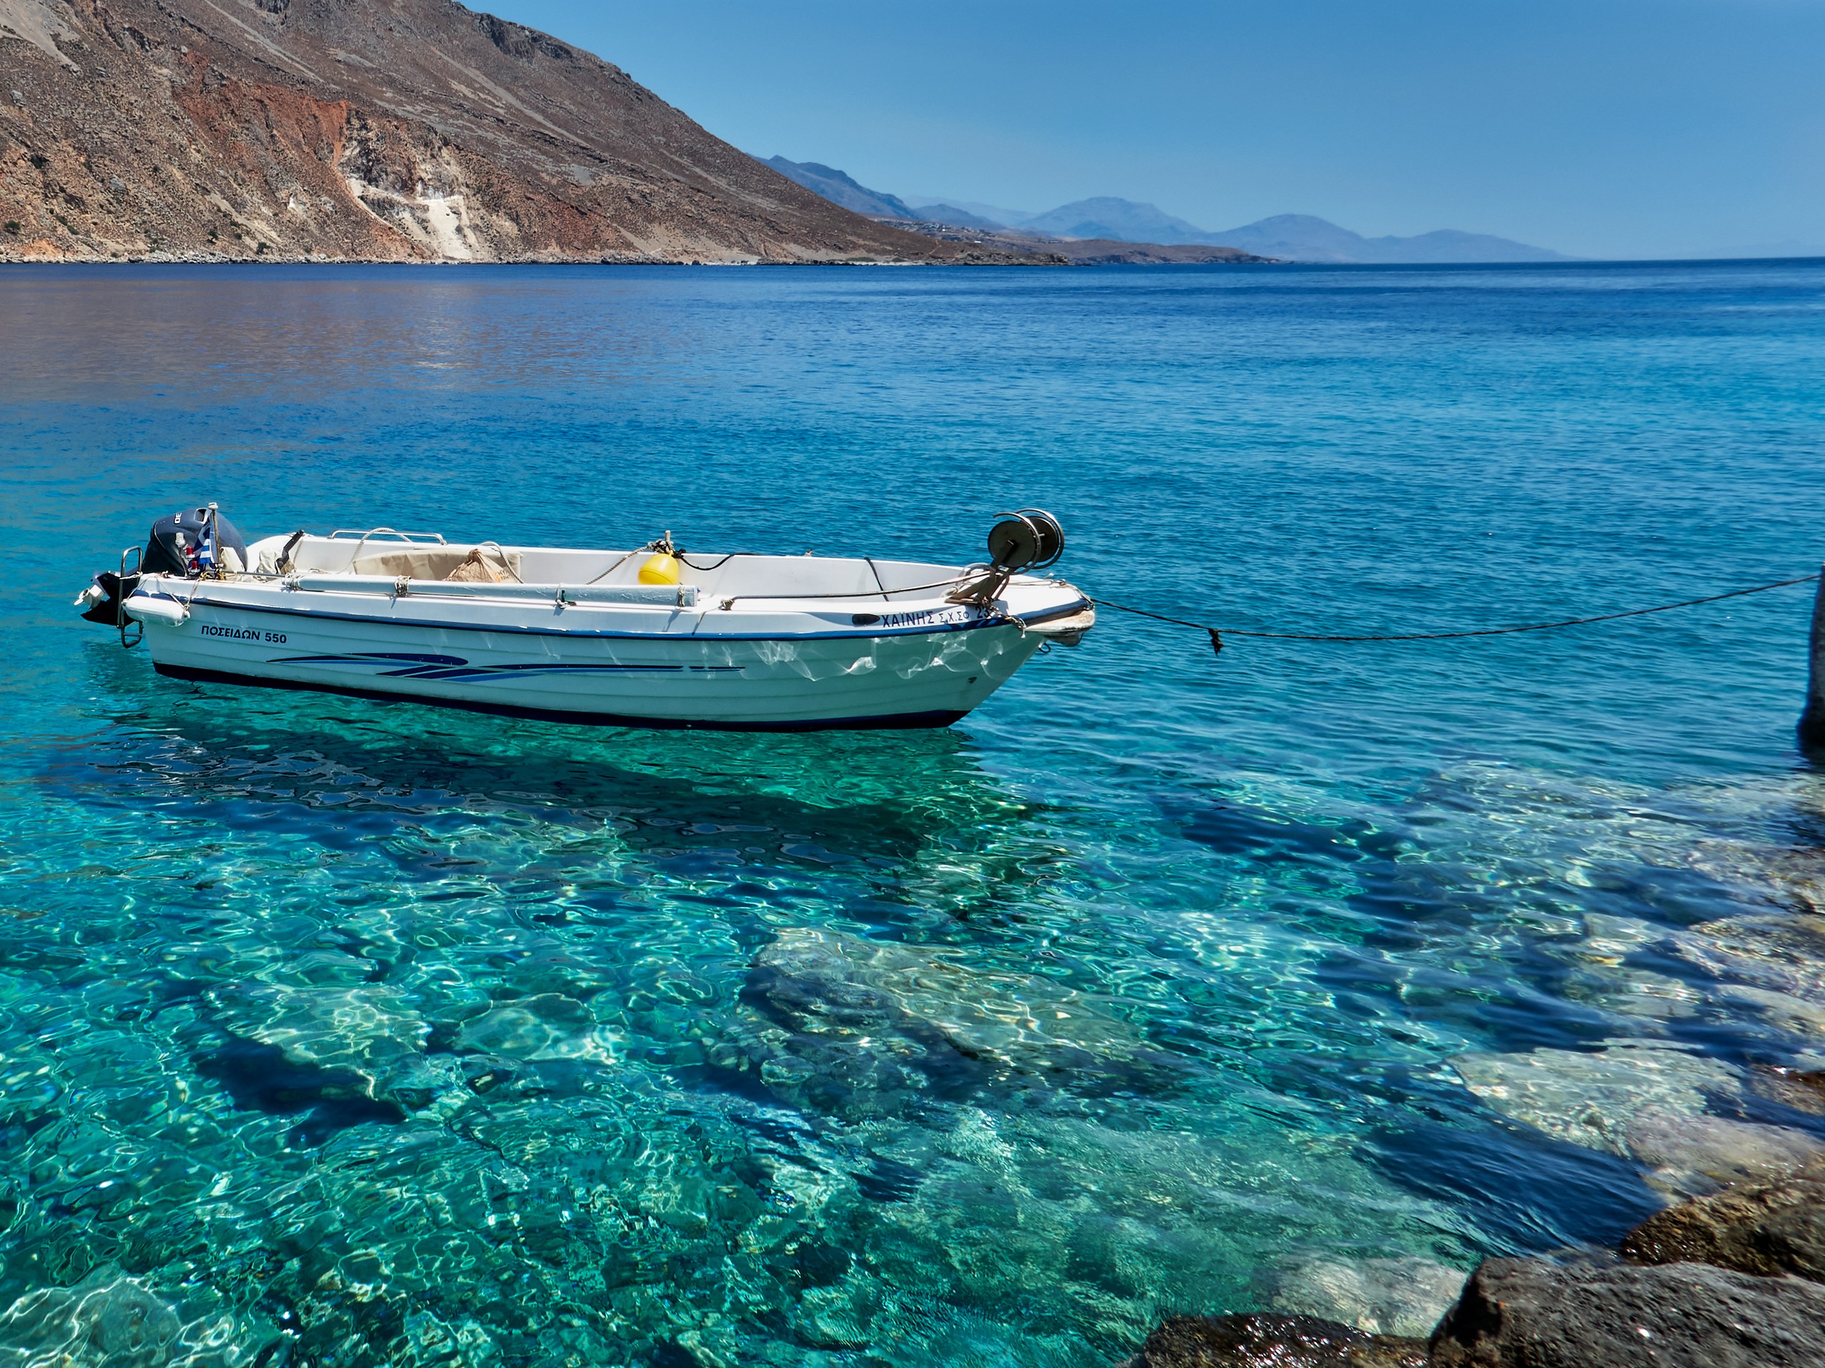
<instances>
[{"instance_id":1,"label":"small white motorboat with outboard engine, moored by a rope","mask_svg":"<svg viewBox=\"0 0 1825 1368\"><path fill-rule=\"evenodd\" d=\"M670 534L633 551L391 529L246 544L210 505L161 520L141 573L130 549L77 602L173 679L611 726L925 728L1095 622L1084 593L1035 573L1062 547L1037 511L996 523L980 565L684 554Z\"/></svg>"}]
</instances>

